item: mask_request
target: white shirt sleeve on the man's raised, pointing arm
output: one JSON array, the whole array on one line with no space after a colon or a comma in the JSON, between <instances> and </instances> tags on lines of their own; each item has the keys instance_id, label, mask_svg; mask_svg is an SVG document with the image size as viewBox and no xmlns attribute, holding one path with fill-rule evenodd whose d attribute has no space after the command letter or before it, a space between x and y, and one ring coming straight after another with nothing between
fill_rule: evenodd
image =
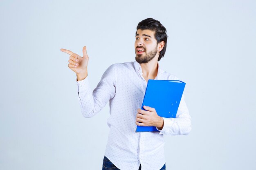
<instances>
[{"instance_id":1,"label":"white shirt sleeve on the man's raised, pointing arm","mask_svg":"<svg viewBox=\"0 0 256 170\"><path fill-rule=\"evenodd\" d=\"M78 100L84 117L93 117L115 96L115 64L103 73L97 87L92 91L88 77L77 81Z\"/></svg>"}]
</instances>

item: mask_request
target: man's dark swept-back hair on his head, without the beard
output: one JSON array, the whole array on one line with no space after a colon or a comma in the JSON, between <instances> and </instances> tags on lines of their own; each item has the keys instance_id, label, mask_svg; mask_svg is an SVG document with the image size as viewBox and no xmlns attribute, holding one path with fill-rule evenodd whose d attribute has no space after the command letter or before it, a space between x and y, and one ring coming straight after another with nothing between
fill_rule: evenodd
<instances>
[{"instance_id":1,"label":"man's dark swept-back hair on his head, without the beard","mask_svg":"<svg viewBox=\"0 0 256 170\"><path fill-rule=\"evenodd\" d=\"M142 20L139 22L137 26L137 30L141 29L149 29L151 31L155 31L155 39L157 40L157 44L159 42L164 41L164 48L160 51L158 61L161 60L162 57L164 57L164 53L166 51L166 45L167 45L167 34L166 34L166 28L157 20L154 20L153 18L147 18L145 20ZM137 31L136 31L137 34Z\"/></svg>"}]
</instances>

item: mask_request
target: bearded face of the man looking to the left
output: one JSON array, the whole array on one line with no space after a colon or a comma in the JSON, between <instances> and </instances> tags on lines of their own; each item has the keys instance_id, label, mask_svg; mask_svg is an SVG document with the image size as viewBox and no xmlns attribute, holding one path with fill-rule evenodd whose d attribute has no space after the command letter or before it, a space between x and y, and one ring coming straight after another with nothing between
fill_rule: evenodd
<instances>
[{"instance_id":1,"label":"bearded face of the man looking to the left","mask_svg":"<svg viewBox=\"0 0 256 170\"><path fill-rule=\"evenodd\" d=\"M138 29L135 38L135 60L139 64L152 60L157 54L155 31Z\"/></svg>"}]
</instances>

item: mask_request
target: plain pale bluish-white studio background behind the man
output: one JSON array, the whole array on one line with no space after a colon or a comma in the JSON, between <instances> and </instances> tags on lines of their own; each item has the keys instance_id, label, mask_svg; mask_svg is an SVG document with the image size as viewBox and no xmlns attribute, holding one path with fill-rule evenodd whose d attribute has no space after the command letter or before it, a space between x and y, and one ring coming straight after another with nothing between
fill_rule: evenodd
<instances>
[{"instance_id":1,"label":"plain pale bluish-white studio background behind the man","mask_svg":"<svg viewBox=\"0 0 256 170\"><path fill-rule=\"evenodd\" d=\"M137 24L167 29L163 70L186 82L188 136L165 135L167 170L256 169L256 1L0 2L0 169L100 170L109 106L84 118L69 55L87 46L95 88L135 61Z\"/></svg>"}]
</instances>

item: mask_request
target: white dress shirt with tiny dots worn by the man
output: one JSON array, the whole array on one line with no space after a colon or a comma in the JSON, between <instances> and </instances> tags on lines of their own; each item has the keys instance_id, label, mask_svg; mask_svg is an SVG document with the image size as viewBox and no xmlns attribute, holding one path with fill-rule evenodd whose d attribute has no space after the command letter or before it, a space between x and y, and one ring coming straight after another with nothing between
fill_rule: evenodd
<instances>
[{"instance_id":1,"label":"white dress shirt with tiny dots worn by the man","mask_svg":"<svg viewBox=\"0 0 256 170\"><path fill-rule=\"evenodd\" d=\"M159 68L155 79L177 80ZM160 132L135 132L137 109L141 108L147 82L139 63L112 64L92 91L88 77L78 81L78 99L84 117L92 117L109 101L110 128L105 156L121 170L159 170L164 166L164 136L187 135L191 117L182 96L176 118L163 118Z\"/></svg>"}]
</instances>

